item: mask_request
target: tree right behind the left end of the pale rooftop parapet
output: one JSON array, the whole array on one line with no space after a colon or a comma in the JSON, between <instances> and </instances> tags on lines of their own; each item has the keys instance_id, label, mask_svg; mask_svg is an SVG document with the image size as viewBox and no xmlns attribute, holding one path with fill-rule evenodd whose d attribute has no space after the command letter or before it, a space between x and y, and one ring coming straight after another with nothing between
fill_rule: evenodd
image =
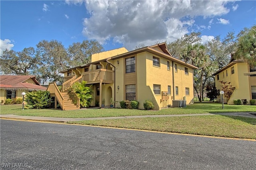
<instances>
[{"instance_id":1,"label":"tree right behind the left end of the pale rooftop parapet","mask_svg":"<svg viewBox=\"0 0 256 170\"><path fill-rule=\"evenodd\" d=\"M102 51L104 51L102 45L96 40L73 43L67 49L68 57L71 59L70 66L90 63L92 54Z\"/></svg>"}]
</instances>

